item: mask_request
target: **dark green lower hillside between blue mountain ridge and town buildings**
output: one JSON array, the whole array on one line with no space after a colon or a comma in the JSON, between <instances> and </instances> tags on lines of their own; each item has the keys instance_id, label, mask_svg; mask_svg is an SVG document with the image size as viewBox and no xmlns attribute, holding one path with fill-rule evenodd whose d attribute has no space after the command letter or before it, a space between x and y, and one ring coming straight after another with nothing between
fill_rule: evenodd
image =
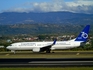
<instances>
[{"instance_id":1,"label":"dark green lower hillside between blue mountain ridge and town buildings","mask_svg":"<svg viewBox=\"0 0 93 70\"><path fill-rule=\"evenodd\" d=\"M86 25L14 24L0 25L0 35L78 34ZM92 26L91 26L92 27ZM91 33L93 28L91 28Z\"/></svg>"}]
</instances>

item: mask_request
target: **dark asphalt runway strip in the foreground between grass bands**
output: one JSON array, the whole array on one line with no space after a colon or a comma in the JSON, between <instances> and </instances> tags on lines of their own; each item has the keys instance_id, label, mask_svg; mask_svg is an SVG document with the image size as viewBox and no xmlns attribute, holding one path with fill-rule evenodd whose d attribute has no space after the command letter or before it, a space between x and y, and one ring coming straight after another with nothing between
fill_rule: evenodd
<instances>
[{"instance_id":1,"label":"dark asphalt runway strip in the foreground between grass bands","mask_svg":"<svg viewBox=\"0 0 93 70\"><path fill-rule=\"evenodd\" d=\"M92 66L93 58L9 58L0 59L0 67L83 67Z\"/></svg>"}]
</instances>

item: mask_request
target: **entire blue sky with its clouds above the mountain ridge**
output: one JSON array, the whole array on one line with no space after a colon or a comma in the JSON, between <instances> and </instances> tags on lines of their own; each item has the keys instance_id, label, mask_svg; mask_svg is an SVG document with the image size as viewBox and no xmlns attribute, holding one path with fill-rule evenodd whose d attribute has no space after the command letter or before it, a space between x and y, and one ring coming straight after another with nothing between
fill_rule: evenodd
<instances>
[{"instance_id":1,"label":"entire blue sky with its clouds above the mountain ridge","mask_svg":"<svg viewBox=\"0 0 93 70\"><path fill-rule=\"evenodd\" d=\"M0 12L69 11L93 14L93 0L0 0Z\"/></svg>"}]
</instances>

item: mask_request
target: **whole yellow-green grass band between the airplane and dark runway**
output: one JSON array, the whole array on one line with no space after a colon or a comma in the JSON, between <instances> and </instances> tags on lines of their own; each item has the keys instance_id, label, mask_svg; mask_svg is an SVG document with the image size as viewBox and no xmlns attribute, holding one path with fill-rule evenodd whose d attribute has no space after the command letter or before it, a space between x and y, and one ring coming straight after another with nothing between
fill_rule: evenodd
<instances>
[{"instance_id":1,"label":"whole yellow-green grass band between the airplane and dark runway","mask_svg":"<svg viewBox=\"0 0 93 70\"><path fill-rule=\"evenodd\" d=\"M93 52L56 52L56 53L32 53L32 52L0 52L0 58L93 58Z\"/></svg>"}]
</instances>

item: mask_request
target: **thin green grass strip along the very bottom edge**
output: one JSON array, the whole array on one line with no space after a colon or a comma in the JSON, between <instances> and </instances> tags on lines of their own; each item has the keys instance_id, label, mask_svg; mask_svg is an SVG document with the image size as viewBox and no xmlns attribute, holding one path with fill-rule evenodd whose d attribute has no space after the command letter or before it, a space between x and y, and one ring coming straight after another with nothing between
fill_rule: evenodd
<instances>
[{"instance_id":1,"label":"thin green grass strip along the very bottom edge","mask_svg":"<svg viewBox=\"0 0 93 70\"><path fill-rule=\"evenodd\" d=\"M93 70L93 67L36 67L36 68L0 68L0 70Z\"/></svg>"}]
</instances>

